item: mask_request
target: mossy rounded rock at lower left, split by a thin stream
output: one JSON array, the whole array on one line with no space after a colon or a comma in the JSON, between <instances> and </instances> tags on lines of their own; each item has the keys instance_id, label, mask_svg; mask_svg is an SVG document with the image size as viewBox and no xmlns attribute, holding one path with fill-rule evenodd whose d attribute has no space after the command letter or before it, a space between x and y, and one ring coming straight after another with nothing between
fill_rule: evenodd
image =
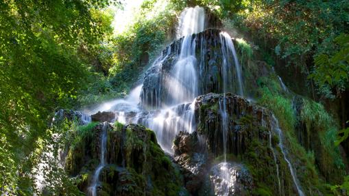
<instances>
[{"instance_id":1,"label":"mossy rounded rock at lower left, split by a thin stream","mask_svg":"<svg viewBox=\"0 0 349 196\"><path fill-rule=\"evenodd\" d=\"M65 169L76 176L78 188L88 193L99 164L103 124L75 135L68 146ZM109 124L106 165L99 176L97 195L179 195L182 181L176 168L156 141L152 130L130 124Z\"/></svg>"}]
</instances>

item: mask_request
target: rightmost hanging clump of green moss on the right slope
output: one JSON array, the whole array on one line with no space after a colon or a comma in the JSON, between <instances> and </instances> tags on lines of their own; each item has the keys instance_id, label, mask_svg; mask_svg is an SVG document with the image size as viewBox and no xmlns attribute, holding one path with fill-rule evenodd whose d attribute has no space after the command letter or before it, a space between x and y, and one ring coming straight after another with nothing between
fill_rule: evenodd
<instances>
[{"instance_id":1,"label":"rightmost hanging clump of green moss on the right slope","mask_svg":"<svg viewBox=\"0 0 349 196\"><path fill-rule=\"evenodd\" d=\"M316 152L317 165L326 180L339 183L343 178L345 165L339 148L335 146L338 130L336 123L322 104L306 98L302 98L302 103L299 123L304 124L304 131L310 139L318 138L316 143L311 141L311 149Z\"/></svg>"}]
</instances>

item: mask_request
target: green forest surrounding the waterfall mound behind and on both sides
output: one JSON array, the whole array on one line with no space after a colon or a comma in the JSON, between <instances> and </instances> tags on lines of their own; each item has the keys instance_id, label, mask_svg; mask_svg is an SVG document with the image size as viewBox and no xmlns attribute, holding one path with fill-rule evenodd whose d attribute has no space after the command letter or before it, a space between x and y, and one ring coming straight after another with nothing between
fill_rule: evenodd
<instances>
[{"instance_id":1,"label":"green forest surrounding the waterfall mound behind and on both sides","mask_svg":"<svg viewBox=\"0 0 349 196\"><path fill-rule=\"evenodd\" d=\"M115 21L123 20L117 13L124 5L0 2L1 193L36 193L33 176L43 158L51 162L44 170L52 193L79 193L42 153L64 143L53 136L66 129L49 126L54 111L125 96L173 40L180 11L193 5L208 8L222 28L245 39L294 92L324 105L335 121L336 144L349 149L349 1L145 0L121 29ZM348 184L333 186L349 191Z\"/></svg>"}]
</instances>

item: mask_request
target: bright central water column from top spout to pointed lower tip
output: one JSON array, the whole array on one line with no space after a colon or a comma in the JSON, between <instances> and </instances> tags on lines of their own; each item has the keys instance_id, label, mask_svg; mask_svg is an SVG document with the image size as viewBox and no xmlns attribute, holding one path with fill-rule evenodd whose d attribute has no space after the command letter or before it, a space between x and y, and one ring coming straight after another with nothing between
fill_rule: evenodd
<instances>
[{"instance_id":1,"label":"bright central water column from top spout to pointed lower tip","mask_svg":"<svg viewBox=\"0 0 349 196\"><path fill-rule=\"evenodd\" d=\"M180 23L178 25L178 38L182 38L180 53L176 63L171 68L169 76L164 81L165 91L169 96L167 101L159 100L160 89L154 89L154 94L150 96L151 108L160 107L159 111L150 111L146 115L136 115L132 122L144 124L156 132L158 142L161 147L171 153L172 141L180 130L193 132L194 124L194 106L195 97L198 96L197 79L197 59L195 57L195 38L193 33L199 33L204 30L205 12L204 8L196 6L195 8L186 8L180 14ZM153 69L161 70L163 61L171 53L171 48L167 49L167 55L156 62ZM151 68L152 69L152 68ZM151 77L147 77L151 78ZM142 93L145 93L144 91ZM147 96L143 98L147 99ZM154 100L156 99L156 100ZM144 101L144 100L143 100ZM160 102L166 102L171 105L161 106Z\"/></svg>"}]
</instances>

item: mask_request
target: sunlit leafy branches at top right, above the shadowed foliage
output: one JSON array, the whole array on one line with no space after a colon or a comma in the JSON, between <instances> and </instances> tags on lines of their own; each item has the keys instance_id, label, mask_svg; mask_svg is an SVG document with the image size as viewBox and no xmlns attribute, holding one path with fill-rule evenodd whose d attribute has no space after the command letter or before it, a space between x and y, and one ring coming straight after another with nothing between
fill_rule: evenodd
<instances>
[{"instance_id":1,"label":"sunlit leafy branches at top right, above the shadowed foliage","mask_svg":"<svg viewBox=\"0 0 349 196\"><path fill-rule=\"evenodd\" d=\"M276 40L276 53L304 64L306 55L330 51L330 41L347 29L348 1L248 1L238 13L243 24ZM295 20L297 18L297 20ZM239 22L239 21L237 21Z\"/></svg>"}]
</instances>

